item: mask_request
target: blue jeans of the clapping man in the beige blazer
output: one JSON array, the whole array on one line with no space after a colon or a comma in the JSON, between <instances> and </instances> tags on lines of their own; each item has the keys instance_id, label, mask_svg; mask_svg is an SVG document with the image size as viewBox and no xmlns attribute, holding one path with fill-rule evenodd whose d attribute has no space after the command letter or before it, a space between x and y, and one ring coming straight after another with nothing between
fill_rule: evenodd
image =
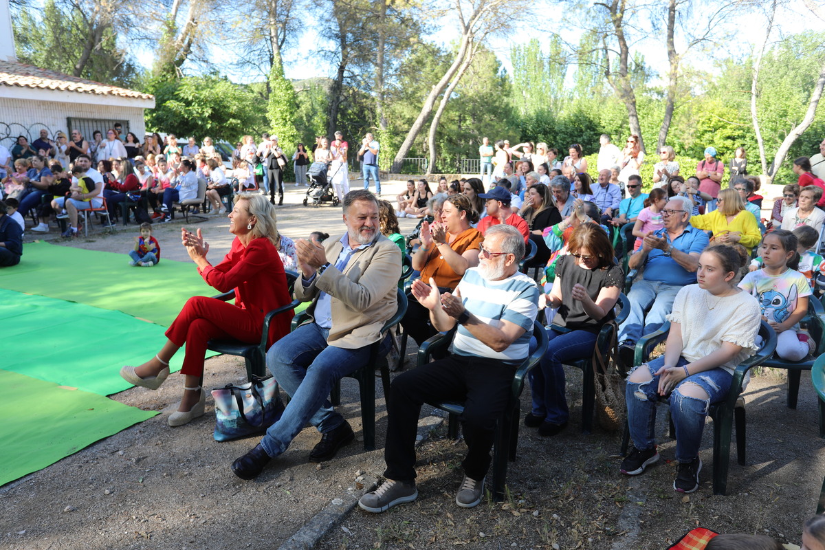
<instances>
[{"instance_id":1,"label":"blue jeans of the clapping man in the beige blazer","mask_svg":"<svg viewBox=\"0 0 825 550\"><path fill-rule=\"evenodd\" d=\"M266 430L261 444L276 457L308 423L321 433L344 423L328 401L332 386L370 360L370 346L346 350L328 346L329 329L310 322L290 332L266 352L266 367L291 397L281 420ZM389 335L382 344L389 351Z\"/></svg>"}]
</instances>

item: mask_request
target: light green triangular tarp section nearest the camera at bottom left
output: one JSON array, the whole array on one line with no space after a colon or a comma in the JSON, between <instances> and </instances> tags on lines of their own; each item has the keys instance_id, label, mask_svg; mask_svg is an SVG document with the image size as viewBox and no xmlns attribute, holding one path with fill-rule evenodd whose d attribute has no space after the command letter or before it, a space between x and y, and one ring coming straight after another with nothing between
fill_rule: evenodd
<instances>
[{"instance_id":1,"label":"light green triangular tarp section nearest the camera at bottom left","mask_svg":"<svg viewBox=\"0 0 825 550\"><path fill-rule=\"evenodd\" d=\"M0 485L158 414L0 370Z\"/></svg>"}]
</instances>

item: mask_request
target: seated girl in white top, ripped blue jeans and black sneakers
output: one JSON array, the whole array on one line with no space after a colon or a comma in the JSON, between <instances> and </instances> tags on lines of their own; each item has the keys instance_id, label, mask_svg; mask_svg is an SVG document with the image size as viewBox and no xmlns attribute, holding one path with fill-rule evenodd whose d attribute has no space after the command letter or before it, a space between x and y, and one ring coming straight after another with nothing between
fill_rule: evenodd
<instances>
[{"instance_id":1,"label":"seated girl in white top, ripped blue jeans and black sneakers","mask_svg":"<svg viewBox=\"0 0 825 550\"><path fill-rule=\"evenodd\" d=\"M634 369L625 389L633 447L621 472L638 475L658 461L656 402L667 397L676 426L678 468L673 489L699 487L699 447L710 403L724 400L733 370L757 352L761 312L757 299L736 286L747 257L714 245L699 258L696 280L673 303L665 354Z\"/></svg>"}]
</instances>

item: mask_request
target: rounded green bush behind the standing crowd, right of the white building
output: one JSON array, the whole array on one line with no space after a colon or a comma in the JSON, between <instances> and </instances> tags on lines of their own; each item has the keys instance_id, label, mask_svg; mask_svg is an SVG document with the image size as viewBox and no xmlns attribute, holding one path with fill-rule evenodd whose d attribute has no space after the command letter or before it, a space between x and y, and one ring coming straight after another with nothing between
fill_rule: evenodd
<instances>
[{"instance_id":1,"label":"rounded green bush behind the standing crowd, right of the white building","mask_svg":"<svg viewBox=\"0 0 825 550\"><path fill-rule=\"evenodd\" d=\"M150 83L155 108L146 111L149 131L205 136L235 143L243 134L259 134L266 128L256 94L247 87L215 75L184 77Z\"/></svg>"}]
</instances>

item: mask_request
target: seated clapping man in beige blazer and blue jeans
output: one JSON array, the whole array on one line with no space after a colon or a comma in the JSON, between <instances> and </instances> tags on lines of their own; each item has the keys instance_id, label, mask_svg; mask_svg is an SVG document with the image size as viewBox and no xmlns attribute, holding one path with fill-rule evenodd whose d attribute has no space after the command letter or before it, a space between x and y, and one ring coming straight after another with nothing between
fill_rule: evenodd
<instances>
[{"instance_id":1,"label":"seated clapping man in beige blazer and blue jeans","mask_svg":"<svg viewBox=\"0 0 825 550\"><path fill-rule=\"evenodd\" d=\"M301 270L295 297L312 301L311 320L266 353L266 366L291 399L261 443L233 463L243 479L257 477L307 423L322 434L310 462L329 460L355 437L328 396L338 379L369 360L370 345L393 317L401 251L381 235L378 201L370 191L350 191L343 208L347 233L340 239L328 239L323 247L304 239L295 243ZM384 346L389 350L389 337Z\"/></svg>"}]
</instances>

